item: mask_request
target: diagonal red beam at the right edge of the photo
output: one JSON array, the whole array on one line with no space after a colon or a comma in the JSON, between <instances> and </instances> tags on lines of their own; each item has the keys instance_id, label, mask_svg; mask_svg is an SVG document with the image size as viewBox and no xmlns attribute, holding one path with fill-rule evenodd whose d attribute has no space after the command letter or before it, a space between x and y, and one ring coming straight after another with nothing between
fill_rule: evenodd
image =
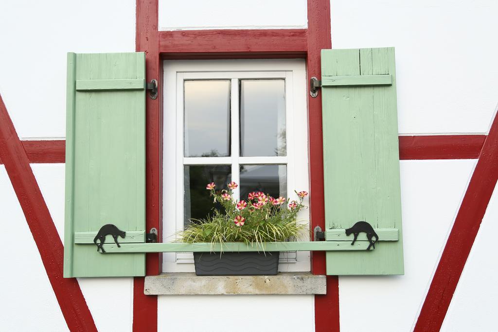
<instances>
[{"instance_id":1,"label":"diagonal red beam at the right edge of the photo","mask_svg":"<svg viewBox=\"0 0 498 332\"><path fill-rule=\"evenodd\" d=\"M498 179L498 114L446 241L415 332L439 331Z\"/></svg>"}]
</instances>

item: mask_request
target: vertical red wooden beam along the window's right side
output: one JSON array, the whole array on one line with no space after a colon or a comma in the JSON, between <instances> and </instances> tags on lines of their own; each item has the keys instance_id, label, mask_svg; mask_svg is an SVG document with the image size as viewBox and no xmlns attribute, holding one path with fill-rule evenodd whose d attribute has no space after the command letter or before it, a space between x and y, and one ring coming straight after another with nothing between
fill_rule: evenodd
<instances>
[{"instance_id":1,"label":"vertical red wooden beam along the window's right side","mask_svg":"<svg viewBox=\"0 0 498 332\"><path fill-rule=\"evenodd\" d=\"M306 64L308 82L321 77L320 53L332 48L330 34L330 1L308 0L308 31ZM308 94L309 158L310 158L310 224L311 229L325 229L323 198L322 96ZM325 252L312 252L311 271L325 274ZM339 331L339 278L327 276L327 294L315 295L315 331Z\"/></svg>"}]
</instances>

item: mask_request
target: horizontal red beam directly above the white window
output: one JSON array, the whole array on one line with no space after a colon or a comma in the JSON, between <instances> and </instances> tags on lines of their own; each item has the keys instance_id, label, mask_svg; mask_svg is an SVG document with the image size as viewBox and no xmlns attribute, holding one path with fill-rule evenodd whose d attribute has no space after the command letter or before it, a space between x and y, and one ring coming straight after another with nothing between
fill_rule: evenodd
<instances>
[{"instance_id":1,"label":"horizontal red beam directly above the white window","mask_svg":"<svg viewBox=\"0 0 498 332\"><path fill-rule=\"evenodd\" d=\"M306 29L220 29L159 31L163 57L299 56L307 52ZM199 57L196 56L197 59Z\"/></svg>"}]
</instances>

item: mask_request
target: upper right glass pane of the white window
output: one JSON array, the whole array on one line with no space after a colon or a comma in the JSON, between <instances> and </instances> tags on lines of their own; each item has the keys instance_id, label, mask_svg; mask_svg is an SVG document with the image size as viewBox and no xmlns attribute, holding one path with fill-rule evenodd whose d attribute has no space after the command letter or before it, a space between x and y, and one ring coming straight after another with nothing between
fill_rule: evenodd
<instances>
[{"instance_id":1,"label":"upper right glass pane of the white window","mask_svg":"<svg viewBox=\"0 0 498 332\"><path fill-rule=\"evenodd\" d=\"M241 156L286 155L285 81L241 81Z\"/></svg>"}]
</instances>

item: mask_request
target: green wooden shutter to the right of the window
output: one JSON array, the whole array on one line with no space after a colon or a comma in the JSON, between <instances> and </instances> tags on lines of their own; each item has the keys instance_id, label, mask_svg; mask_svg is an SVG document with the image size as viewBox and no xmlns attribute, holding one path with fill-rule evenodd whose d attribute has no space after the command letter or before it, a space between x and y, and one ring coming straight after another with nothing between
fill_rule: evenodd
<instances>
[{"instance_id":1,"label":"green wooden shutter to the right of the window","mask_svg":"<svg viewBox=\"0 0 498 332\"><path fill-rule=\"evenodd\" d=\"M403 274L394 48L322 50L322 106L326 238L357 221L380 237L327 252L327 274Z\"/></svg>"}]
</instances>

